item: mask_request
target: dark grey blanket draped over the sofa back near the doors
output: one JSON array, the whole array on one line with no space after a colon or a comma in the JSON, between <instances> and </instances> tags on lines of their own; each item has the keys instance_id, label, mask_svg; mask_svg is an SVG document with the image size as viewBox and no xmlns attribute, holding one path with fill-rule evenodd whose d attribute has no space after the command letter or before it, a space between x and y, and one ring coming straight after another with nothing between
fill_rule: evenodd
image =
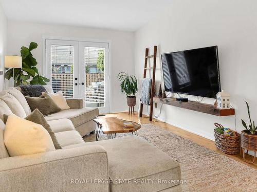
<instances>
[{"instance_id":1,"label":"dark grey blanket draped over the sofa back near the doors","mask_svg":"<svg viewBox=\"0 0 257 192\"><path fill-rule=\"evenodd\" d=\"M22 94L28 97L39 97L46 89L40 84L23 84L20 86Z\"/></svg>"}]
</instances>

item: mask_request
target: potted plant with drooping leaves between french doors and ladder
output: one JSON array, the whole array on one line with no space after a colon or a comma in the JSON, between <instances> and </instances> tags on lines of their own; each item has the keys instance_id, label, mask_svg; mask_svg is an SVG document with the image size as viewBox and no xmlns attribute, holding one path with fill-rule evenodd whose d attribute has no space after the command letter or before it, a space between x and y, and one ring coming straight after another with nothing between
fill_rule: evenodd
<instances>
[{"instance_id":1,"label":"potted plant with drooping leaves between french doors and ladder","mask_svg":"<svg viewBox=\"0 0 257 192\"><path fill-rule=\"evenodd\" d=\"M125 93L127 96L127 105L136 105L136 92L137 92L137 79L134 75L127 75L127 73L120 72L118 74L118 79L120 80L121 92Z\"/></svg>"}]
</instances>

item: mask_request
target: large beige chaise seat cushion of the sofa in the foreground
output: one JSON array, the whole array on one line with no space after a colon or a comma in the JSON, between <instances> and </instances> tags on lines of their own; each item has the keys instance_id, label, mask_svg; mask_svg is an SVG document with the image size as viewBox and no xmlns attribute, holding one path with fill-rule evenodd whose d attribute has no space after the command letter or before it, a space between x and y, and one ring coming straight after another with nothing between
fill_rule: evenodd
<instances>
[{"instance_id":1,"label":"large beige chaise seat cushion of the sofa in the foreground","mask_svg":"<svg viewBox=\"0 0 257 192\"><path fill-rule=\"evenodd\" d=\"M170 156L138 136L126 136L117 139L87 142L64 148L81 145L101 145L107 152L109 177L112 181L127 181L131 184L112 183L110 191L159 191L177 183L158 183L158 179L180 180L180 166ZM148 184L134 183L140 181Z\"/></svg>"}]
</instances>

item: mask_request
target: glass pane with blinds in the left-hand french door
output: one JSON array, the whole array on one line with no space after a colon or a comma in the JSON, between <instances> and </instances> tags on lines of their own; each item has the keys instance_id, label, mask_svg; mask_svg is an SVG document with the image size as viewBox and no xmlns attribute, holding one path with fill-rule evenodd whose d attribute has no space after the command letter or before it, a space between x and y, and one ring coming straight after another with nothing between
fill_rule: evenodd
<instances>
[{"instance_id":1,"label":"glass pane with blinds in the left-hand french door","mask_svg":"<svg viewBox=\"0 0 257 192\"><path fill-rule=\"evenodd\" d=\"M52 89L73 97L74 46L51 46Z\"/></svg>"}]
</instances>

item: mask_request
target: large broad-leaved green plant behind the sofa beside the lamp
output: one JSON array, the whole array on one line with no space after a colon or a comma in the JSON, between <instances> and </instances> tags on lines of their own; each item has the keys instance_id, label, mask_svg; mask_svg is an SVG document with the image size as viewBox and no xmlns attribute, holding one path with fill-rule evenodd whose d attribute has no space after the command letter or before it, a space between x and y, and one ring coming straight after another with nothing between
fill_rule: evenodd
<instances>
[{"instance_id":1,"label":"large broad-leaved green plant behind the sofa beside the lamp","mask_svg":"<svg viewBox=\"0 0 257 192\"><path fill-rule=\"evenodd\" d=\"M38 69L35 67L38 62L36 62L31 51L36 49L38 44L36 42L30 42L29 48L21 47L21 56L22 56L22 68L14 69L14 85L20 86L21 84L42 84L45 85L49 82L49 79L43 77L39 74ZM24 74L25 72L25 74ZM5 73L5 78L10 79L13 77L12 68ZM28 80L32 79L28 82Z\"/></svg>"}]
</instances>

